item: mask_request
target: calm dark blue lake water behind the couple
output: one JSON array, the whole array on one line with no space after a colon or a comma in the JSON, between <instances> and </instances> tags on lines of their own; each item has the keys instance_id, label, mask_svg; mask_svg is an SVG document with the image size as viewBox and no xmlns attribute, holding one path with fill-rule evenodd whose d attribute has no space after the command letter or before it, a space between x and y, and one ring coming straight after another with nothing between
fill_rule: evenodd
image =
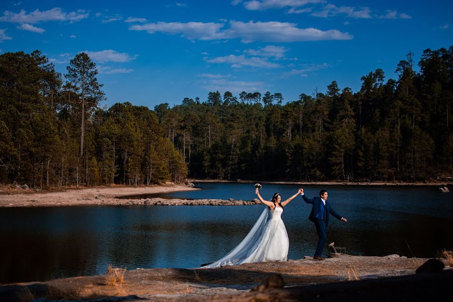
<instances>
[{"instance_id":1,"label":"calm dark blue lake water behind the couple","mask_svg":"<svg viewBox=\"0 0 453 302\"><path fill-rule=\"evenodd\" d=\"M253 184L196 185L203 190L161 196L255 198ZM348 219L331 220L327 241L348 254L433 257L453 249L453 193L412 186L304 187L309 197L322 188ZM267 199L279 192L285 198L296 191L294 185L265 184L261 195ZM262 210L263 205L0 208L0 283L104 274L108 264L199 267L239 244ZM301 197L285 207L289 259L314 253L310 210Z\"/></svg>"}]
</instances>

